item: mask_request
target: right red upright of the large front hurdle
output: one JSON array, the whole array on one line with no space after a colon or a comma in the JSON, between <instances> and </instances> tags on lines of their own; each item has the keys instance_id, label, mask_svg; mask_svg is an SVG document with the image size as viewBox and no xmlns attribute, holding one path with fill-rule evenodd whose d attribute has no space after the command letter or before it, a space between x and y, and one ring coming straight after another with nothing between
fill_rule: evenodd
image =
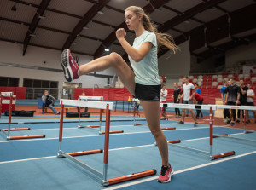
<instances>
[{"instance_id":1,"label":"right red upright of the large front hurdle","mask_svg":"<svg viewBox=\"0 0 256 190\"><path fill-rule=\"evenodd\" d=\"M108 186L108 148L109 148L109 128L110 128L110 110L107 105L106 110L106 128L105 128L105 143L104 143L104 160L103 160L103 181L102 186Z\"/></svg>"}]
</instances>

